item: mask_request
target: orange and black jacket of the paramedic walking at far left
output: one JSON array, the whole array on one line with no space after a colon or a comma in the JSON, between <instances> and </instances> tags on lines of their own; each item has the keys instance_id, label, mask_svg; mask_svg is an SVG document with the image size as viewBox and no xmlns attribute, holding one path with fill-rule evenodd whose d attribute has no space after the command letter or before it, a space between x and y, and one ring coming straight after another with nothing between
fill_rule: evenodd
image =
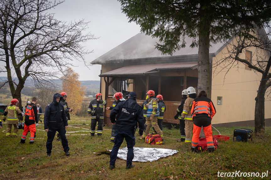
<instances>
[{"instance_id":1,"label":"orange and black jacket of the paramedic walking at far left","mask_svg":"<svg viewBox=\"0 0 271 180\"><path fill-rule=\"evenodd\" d=\"M30 126L39 122L38 120L37 106L34 103L30 103L25 106L24 123L26 126Z\"/></svg>"}]
</instances>

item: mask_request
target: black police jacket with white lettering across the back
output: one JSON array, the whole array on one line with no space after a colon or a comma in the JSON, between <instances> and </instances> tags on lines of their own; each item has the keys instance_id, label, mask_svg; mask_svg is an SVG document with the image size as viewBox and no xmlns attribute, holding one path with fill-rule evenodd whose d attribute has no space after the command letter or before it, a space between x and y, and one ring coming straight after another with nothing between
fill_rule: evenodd
<instances>
[{"instance_id":1,"label":"black police jacket with white lettering across the back","mask_svg":"<svg viewBox=\"0 0 271 180\"><path fill-rule=\"evenodd\" d=\"M115 120L117 115L117 120ZM134 97L119 102L110 112L110 121L116 123L117 131L135 131L137 125L139 130L144 130L144 117L142 107L138 105Z\"/></svg>"}]
</instances>

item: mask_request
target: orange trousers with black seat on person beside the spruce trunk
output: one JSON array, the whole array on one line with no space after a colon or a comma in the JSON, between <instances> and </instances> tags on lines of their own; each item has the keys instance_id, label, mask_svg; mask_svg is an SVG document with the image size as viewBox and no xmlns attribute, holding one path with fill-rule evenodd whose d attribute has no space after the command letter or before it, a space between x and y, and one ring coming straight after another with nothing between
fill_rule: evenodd
<instances>
[{"instance_id":1,"label":"orange trousers with black seat on person beside the spruce trunk","mask_svg":"<svg viewBox=\"0 0 271 180\"><path fill-rule=\"evenodd\" d=\"M212 125L211 125L211 118L210 117L197 117L194 118L194 125L193 125L193 137L192 137L192 148L198 146L198 138L201 130L201 126L203 126L204 135L207 141L207 147L214 148L214 141L212 135Z\"/></svg>"}]
</instances>

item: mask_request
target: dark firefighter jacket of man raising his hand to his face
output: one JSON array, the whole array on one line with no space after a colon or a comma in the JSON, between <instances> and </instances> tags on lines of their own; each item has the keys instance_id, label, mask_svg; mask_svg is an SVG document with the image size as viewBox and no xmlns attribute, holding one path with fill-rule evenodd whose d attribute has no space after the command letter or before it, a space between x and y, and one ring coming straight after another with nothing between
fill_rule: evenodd
<instances>
[{"instance_id":1,"label":"dark firefighter jacket of man raising his hand to his face","mask_svg":"<svg viewBox=\"0 0 271 180\"><path fill-rule=\"evenodd\" d=\"M94 99L90 101L88 113L91 114L91 119L103 119L104 118L104 105L106 105L106 100Z\"/></svg>"}]
</instances>

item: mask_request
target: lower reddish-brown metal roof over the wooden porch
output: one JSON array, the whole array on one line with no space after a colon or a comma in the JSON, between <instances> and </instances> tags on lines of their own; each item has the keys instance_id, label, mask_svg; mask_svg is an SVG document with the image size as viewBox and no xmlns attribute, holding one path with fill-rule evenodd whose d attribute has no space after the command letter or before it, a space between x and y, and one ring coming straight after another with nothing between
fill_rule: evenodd
<instances>
[{"instance_id":1,"label":"lower reddish-brown metal roof over the wooden porch","mask_svg":"<svg viewBox=\"0 0 271 180\"><path fill-rule=\"evenodd\" d=\"M166 64L141 64L124 66L119 69L114 69L100 76L132 76L132 75L145 75L149 73L158 72L160 69L197 69L197 62L182 62L182 63L166 63Z\"/></svg>"}]
</instances>

